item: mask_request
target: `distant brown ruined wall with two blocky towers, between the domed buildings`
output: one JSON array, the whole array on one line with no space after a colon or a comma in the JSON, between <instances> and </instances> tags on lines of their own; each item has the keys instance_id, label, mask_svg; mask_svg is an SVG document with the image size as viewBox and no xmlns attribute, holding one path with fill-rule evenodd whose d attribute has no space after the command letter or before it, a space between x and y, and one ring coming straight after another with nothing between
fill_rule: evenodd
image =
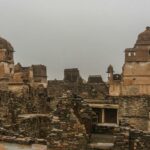
<instances>
[{"instance_id":1,"label":"distant brown ruined wall with two blocky towers, between the domed buildings","mask_svg":"<svg viewBox=\"0 0 150 150\"><path fill-rule=\"evenodd\" d=\"M100 75L90 75L84 81L77 68L65 69L63 80L48 81L49 96L59 97L68 90L83 98L101 98L108 93L108 87Z\"/></svg>"}]
</instances>

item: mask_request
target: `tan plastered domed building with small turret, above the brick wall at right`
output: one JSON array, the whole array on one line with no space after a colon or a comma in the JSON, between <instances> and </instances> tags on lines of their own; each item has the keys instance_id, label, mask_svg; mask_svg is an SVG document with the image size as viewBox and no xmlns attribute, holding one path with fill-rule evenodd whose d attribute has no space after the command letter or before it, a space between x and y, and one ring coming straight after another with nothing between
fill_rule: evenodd
<instances>
[{"instance_id":1,"label":"tan plastered domed building with small turret, above the brick wall at right","mask_svg":"<svg viewBox=\"0 0 150 150\"><path fill-rule=\"evenodd\" d=\"M138 35L133 48L125 50L121 75L114 74L112 66L107 72L110 95L150 95L150 27Z\"/></svg>"}]
</instances>

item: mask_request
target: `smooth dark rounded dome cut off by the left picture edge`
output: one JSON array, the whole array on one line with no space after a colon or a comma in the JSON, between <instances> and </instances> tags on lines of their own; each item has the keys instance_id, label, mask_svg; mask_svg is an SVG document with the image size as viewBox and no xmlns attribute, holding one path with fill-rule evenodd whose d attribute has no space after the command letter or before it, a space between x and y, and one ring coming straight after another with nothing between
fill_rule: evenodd
<instances>
[{"instance_id":1,"label":"smooth dark rounded dome cut off by the left picture edge","mask_svg":"<svg viewBox=\"0 0 150 150\"><path fill-rule=\"evenodd\" d=\"M0 37L0 49L6 49L8 51L14 51L12 45L2 37Z\"/></svg>"}]
</instances>

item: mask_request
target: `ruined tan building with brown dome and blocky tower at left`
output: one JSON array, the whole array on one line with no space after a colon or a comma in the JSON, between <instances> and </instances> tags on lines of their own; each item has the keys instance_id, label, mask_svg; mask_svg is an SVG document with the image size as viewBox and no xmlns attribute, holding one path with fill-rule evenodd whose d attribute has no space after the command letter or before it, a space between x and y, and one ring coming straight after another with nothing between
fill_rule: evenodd
<instances>
[{"instance_id":1,"label":"ruined tan building with brown dome and blocky tower at left","mask_svg":"<svg viewBox=\"0 0 150 150\"><path fill-rule=\"evenodd\" d=\"M0 89L19 92L29 86L47 86L47 71L44 65L15 65L13 55L12 45L0 38Z\"/></svg>"}]
</instances>

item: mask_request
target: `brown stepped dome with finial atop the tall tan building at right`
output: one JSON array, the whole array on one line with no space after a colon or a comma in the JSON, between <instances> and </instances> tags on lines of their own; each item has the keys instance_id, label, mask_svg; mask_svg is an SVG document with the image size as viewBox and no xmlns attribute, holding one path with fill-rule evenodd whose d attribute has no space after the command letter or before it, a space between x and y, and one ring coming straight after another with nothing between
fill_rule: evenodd
<instances>
[{"instance_id":1,"label":"brown stepped dome with finial atop the tall tan building at right","mask_svg":"<svg viewBox=\"0 0 150 150\"><path fill-rule=\"evenodd\" d=\"M135 46L150 45L150 27L146 27L146 30L138 35Z\"/></svg>"}]
</instances>

